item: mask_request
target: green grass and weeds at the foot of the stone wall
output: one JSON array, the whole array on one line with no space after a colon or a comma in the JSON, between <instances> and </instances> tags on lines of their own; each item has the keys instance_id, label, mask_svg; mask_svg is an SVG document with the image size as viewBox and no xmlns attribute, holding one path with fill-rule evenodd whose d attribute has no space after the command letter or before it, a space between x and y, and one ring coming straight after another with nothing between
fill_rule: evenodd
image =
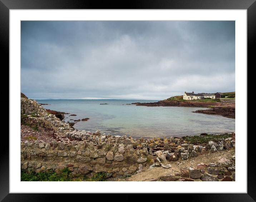
<instances>
[{"instance_id":1,"label":"green grass and weeds at the foot of the stone wall","mask_svg":"<svg viewBox=\"0 0 256 202\"><path fill-rule=\"evenodd\" d=\"M95 173L91 178L83 175L74 177L68 167L61 169L60 173L52 169L39 173L21 171L21 181L107 181L106 179L104 172Z\"/></svg>"}]
</instances>

